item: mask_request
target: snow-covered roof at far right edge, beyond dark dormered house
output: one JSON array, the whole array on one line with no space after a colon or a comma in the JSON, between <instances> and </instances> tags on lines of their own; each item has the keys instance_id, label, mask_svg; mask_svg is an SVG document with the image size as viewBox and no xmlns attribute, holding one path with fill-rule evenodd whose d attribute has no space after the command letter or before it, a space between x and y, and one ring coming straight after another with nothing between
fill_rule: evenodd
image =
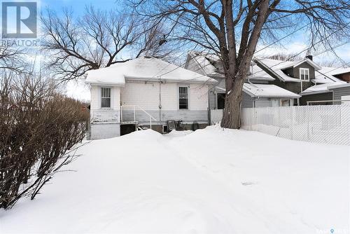
<instances>
[{"instance_id":1,"label":"snow-covered roof at far right edge, beyond dark dormered house","mask_svg":"<svg viewBox=\"0 0 350 234\"><path fill-rule=\"evenodd\" d=\"M321 70L315 71L315 82L316 83L334 83L342 82L341 79L335 77L339 74L344 74L350 72L350 67L348 68L335 68L335 67L321 67Z\"/></svg>"}]
</instances>

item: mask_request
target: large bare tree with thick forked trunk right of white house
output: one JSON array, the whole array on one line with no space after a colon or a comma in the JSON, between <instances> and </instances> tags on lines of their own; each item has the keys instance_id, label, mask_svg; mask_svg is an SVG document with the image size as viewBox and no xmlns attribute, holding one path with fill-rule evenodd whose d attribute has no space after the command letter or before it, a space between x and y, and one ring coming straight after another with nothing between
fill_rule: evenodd
<instances>
[{"instance_id":1,"label":"large bare tree with thick forked trunk right of white house","mask_svg":"<svg viewBox=\"0 0 350 234\"><path fill-rule=\"evenodd\" d=\"M241 90L258 41L278 41L303 26L310 46L349 36L349 1L343 0L132 0L137 11L174 25L171 32L211 50L223 62L223 128L240 128Z\"/></svg>"}]
</instances>

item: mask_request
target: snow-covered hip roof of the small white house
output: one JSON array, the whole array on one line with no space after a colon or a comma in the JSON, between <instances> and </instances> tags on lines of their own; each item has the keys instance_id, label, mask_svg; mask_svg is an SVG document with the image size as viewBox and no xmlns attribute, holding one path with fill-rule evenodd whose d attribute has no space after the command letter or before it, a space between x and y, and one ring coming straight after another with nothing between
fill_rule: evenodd
<instances>
[{"instance_id":1,"label":"snow-covered hip roof of the small white house","mask_svg":"<svg viewBox=\"0 0 350 234\"><path fill-rule=\"evenodd\" d=\"M102 69L87 72L86 83L124 85L125 79L142 81L172 81L186 83L216 83L216 80L178 67L155 57L139 57Z\"/></svg>"}]
</instances>

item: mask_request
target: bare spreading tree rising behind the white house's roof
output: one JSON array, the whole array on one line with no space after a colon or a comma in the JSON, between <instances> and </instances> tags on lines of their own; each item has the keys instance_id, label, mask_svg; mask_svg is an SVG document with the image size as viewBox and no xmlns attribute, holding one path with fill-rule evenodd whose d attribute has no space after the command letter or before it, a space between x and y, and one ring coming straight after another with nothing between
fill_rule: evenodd
<instances>
[{"instance_id":1,"label":"bare spreading tree rising behind the white house's roof","mask_svg":"<svg viewBox=\"0 0 350 234\"><path fill-rule=\"evenodd\" d=\"M141 55L166 56L169 48L159 21L142 21L137 15L85 8L85 15L73 18L48 10L41 18L45 39L43 50L50 55L48 67L62 80L79 78L91 69L109 67ZM127 57L127 59L123 58Z\"/></svg>"}]
</instances>

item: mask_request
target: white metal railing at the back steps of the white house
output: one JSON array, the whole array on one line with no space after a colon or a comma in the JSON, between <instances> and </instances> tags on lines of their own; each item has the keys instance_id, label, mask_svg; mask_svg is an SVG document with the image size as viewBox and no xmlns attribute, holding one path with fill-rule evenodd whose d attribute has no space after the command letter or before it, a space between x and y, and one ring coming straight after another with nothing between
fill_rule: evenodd
<instances>
[{"instance_id":1,"label":"white metal railing at the back steps of the white house","mask_svg":"<svg viewBox=\"0 0 350 234\"><path fill-rule=\"evenodd\" d=\"M137 114L137 111L141 111L145 116L142 116L140 114ZM124 105L120 106L120 120L122 123L126 122L134 122L134 123L150 123L150 128L152 129L152 121L157 122L158 120L151 116L150 113L142 109L140 106L137 105Z\"/></svg>"}]
</instances>

